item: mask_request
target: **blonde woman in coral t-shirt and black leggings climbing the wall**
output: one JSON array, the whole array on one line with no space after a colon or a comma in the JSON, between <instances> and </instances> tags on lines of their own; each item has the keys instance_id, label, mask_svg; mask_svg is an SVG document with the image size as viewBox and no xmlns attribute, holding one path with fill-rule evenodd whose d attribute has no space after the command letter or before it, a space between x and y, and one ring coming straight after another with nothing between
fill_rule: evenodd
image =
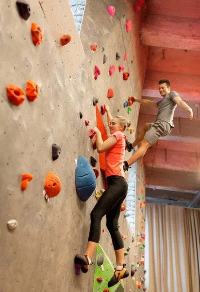
<instances>
[{"instance_id":1,"label":"blonde woman in coral t-shirt and black leggings climbing the wall","mask_svg":"<svg viewBox=\"0 0 200 292\"><path fill-rule=\"evenodd\" d=\"M109 107L105 105L107 121L111 136L102 141L101 133L98 128L94 128L96 134L96 146L98 153L105 152L106 159L106 180L108 187L96 203L90 214L91 225L87 248L84 256L76 255L75 263L81 264L83 273L87 273L92 264L91 259L95 254L101 231L101 219L106 215L106 226L113 240L116 254L117 268L113 277L108 282L108 287L118 283L120 279L129 276L124 263L124 242L118 228L118 219L121 212L121 205L128 191L128 184L124 178L123 163L125 154L126 135L124 130L131 126L121 116L112 117Z\"/></svg>"}]
</instances>

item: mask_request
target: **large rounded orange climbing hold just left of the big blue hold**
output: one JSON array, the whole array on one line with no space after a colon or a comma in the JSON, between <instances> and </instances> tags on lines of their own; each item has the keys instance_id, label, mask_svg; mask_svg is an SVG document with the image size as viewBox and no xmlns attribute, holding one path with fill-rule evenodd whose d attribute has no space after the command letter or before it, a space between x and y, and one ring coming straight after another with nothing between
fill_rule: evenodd
<instances>
[{"instance_id":1,"label":"large rounded orange climbing hold just left of the big blue hold","mask_svg":"<svg viewBox=\"0 0 200 292\"><path fill-rule=\"evenodd\" d=\"M45 180L45 191L47 192L48 196L50 198L53 198L57 196L62 188L62 183L60 179L55 175L53 172L49 172L47 174L46 180Z\"/></svg>"}]
</instances>

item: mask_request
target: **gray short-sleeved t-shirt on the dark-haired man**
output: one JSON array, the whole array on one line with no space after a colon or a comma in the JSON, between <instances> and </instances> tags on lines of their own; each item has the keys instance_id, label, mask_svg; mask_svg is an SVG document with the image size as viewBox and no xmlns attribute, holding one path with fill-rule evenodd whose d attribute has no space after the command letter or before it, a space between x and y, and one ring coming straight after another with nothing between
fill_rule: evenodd
<instances>
[{"instance_id":1,"label":"gray short-sleeved t-shirt on the dark-haired man","mask_svg":"<svg viewBox=\"0 0 200 292\"><path fill-rule=\"evenodd\" d=\"M175 104L174 97L179 96L176 91L170 91L163 100L157 102L158 106L158 115L156 121L165 121L169 123L169 125L174 128L173 124L173 117L174 117L174 110L177 107Z\"/></svg>"}]
</instances>

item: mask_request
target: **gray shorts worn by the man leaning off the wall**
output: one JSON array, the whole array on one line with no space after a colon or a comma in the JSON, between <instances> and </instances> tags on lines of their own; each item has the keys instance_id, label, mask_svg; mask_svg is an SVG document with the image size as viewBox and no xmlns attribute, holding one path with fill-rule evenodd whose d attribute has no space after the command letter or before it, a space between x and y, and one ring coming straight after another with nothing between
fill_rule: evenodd
<instances>
[{"instance_id":1,"label":"gray shorts worn by the man leaning off the wall","mask_svg":"<svg viewBox=\"0 0 200 292\"><path fill-rule=\"evenodd\" d=\"M171 126L164 121L156 121L150 124L150 129L144 136L151 145L155 143L160 137L167 136L171 132Z\"/></svg>"}]
</instances>

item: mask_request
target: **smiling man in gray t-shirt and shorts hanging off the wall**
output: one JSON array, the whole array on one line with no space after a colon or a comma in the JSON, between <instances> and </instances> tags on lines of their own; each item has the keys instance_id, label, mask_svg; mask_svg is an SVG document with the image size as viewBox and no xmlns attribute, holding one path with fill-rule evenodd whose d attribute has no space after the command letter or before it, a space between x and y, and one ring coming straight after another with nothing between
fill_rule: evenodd
<instances>
[{"instance_id":1,"label":"smiling man in gray t-shirt and shorts hanging off the wall","mask_svg":"<svg viewBox=\"0 0 200 292\"><path fill-rule=\"evenodd\" d=\"M189 112L190 120L193 118L192 109L181 99L177 92L170 91L170 83L167 79L161 79L158 84L159 92L163 97L163 100L155 102L148 99L139 99L133 97L134 102L139 102L144 106L158 108L158 114L154 123L144 124L142 130L133 143L126 141L127 150L129 152L131 152L139 143L140 147L133 153L131 158L129 158L127 161L124 161L124 171L128 170L130 165L132 165L138 159L142 158L145 155L147 149L160 137L167 136L171 132L171 128L174 128L173 117L177 105L182 110Z\"/></svg>"}]
</instances>

